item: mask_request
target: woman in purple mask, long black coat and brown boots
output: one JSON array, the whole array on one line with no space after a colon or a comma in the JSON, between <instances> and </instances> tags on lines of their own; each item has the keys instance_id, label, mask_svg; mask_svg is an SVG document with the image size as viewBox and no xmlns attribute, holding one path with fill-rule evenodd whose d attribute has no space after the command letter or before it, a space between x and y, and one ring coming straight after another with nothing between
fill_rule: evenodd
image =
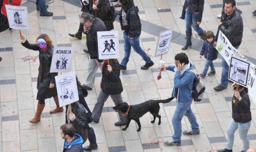
<instances>
[{"instance_id":1,"label":"woman in purple mask, long black coat and brown boots","mask_svg":"<svg viewBox=\"0 0 256 152\"><path fill-rule=\"evenodd\" d=\"M40 121L41 113L44 110L45 99L53 97L56 103L56 109L50 110L50 113L62 112L63 108L59 107L59 100L55 85L55 76L58 73L50 73L50 67L53 57L53 45L52 40L46 35L41 34L36 39L36 44L30 44L23 35L20 35L22 45L25 48L39 51L39 68L37 77L37 111L33 119L29 120L31 123Z\"/></svg>"}]
</instances>

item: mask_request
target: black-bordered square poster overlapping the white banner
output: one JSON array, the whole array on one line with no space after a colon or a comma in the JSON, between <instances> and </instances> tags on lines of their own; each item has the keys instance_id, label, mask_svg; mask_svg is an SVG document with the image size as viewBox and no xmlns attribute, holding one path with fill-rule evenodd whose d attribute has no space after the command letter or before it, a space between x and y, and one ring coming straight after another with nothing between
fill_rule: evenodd
<instances>
[{"instance_id":1,"label":"black-bordered square poster overlapping the white banner","mask_svg":"<svg viewBox=\"0 0 256 152\"><path fill-rule=\"evenodd\" d=\"M250 63L246 60L231 57L228 79L247 87Z\"/></svg>"}]
</instances>

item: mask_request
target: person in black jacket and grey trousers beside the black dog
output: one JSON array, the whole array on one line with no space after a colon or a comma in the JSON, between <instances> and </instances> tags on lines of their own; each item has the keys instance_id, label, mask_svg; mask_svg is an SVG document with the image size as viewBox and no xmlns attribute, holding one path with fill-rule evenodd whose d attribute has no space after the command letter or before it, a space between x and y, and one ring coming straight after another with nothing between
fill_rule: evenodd
<instances>
[{"instance_id":1,"label":"person in black jacket and grey trousers beside the black dog","mask_svg":"<svg viewBox=\"0 0 256 152\"><path fill-rule=\"evenodd\" d=\"M109 65L108 65L109 64ZM120 80L120 65L118 60L109 59L105 60L102 66L102 79L100 82L100 93L97 98L97 103L94 106L94 110L92 112L92 119L94 122L98 123L100 121L100 116L103 110L104 103L110 97L114 101L115 105L118 103L122 103L122 95L123 91L122 82ZM119 121L115 123L115 125L125 125L127 123L126 116L123 115L121 111L118 111Z\"/></svg>"}]
</instances>

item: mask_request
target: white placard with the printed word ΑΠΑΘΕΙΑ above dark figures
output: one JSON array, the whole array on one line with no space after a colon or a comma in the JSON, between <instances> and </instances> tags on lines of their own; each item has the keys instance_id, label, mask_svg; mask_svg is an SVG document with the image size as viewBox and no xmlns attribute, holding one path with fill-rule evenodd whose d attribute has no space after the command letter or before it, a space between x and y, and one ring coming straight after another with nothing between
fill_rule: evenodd
<instances>
[{"instance_id":1,"label":"white placard with the printed word \u0391\u03a0\u0391\u0398\u0395\u0399\u0391 above dark figures","mask_svg":"<svg viewBox=\"0 0 256 152\"><path fill-rule=\"evenodd\" d=\"M50 72L71 71L73 58L72 47L54 48Z\"/></svg>"}]
</instances>

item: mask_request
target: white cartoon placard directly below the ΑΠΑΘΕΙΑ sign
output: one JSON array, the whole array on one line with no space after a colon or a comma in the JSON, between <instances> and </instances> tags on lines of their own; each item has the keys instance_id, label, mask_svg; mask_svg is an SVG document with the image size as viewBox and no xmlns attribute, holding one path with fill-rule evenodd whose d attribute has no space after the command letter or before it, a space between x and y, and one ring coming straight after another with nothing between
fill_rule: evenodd
<instances>
[{"instance_id":1,"label":"white cartoon placard directly below the \u0391\u03a0\u0391\u0398\u0395\u0399\u0391 sign","mask_svg":"<svg viewBox=\"0 0 256 152\"><path fill-rule=\"evenodd\" d=\"M58 75L55 77L55 81L60 107L79 100L74 72Z\"/></svg>"}]
</instances>

